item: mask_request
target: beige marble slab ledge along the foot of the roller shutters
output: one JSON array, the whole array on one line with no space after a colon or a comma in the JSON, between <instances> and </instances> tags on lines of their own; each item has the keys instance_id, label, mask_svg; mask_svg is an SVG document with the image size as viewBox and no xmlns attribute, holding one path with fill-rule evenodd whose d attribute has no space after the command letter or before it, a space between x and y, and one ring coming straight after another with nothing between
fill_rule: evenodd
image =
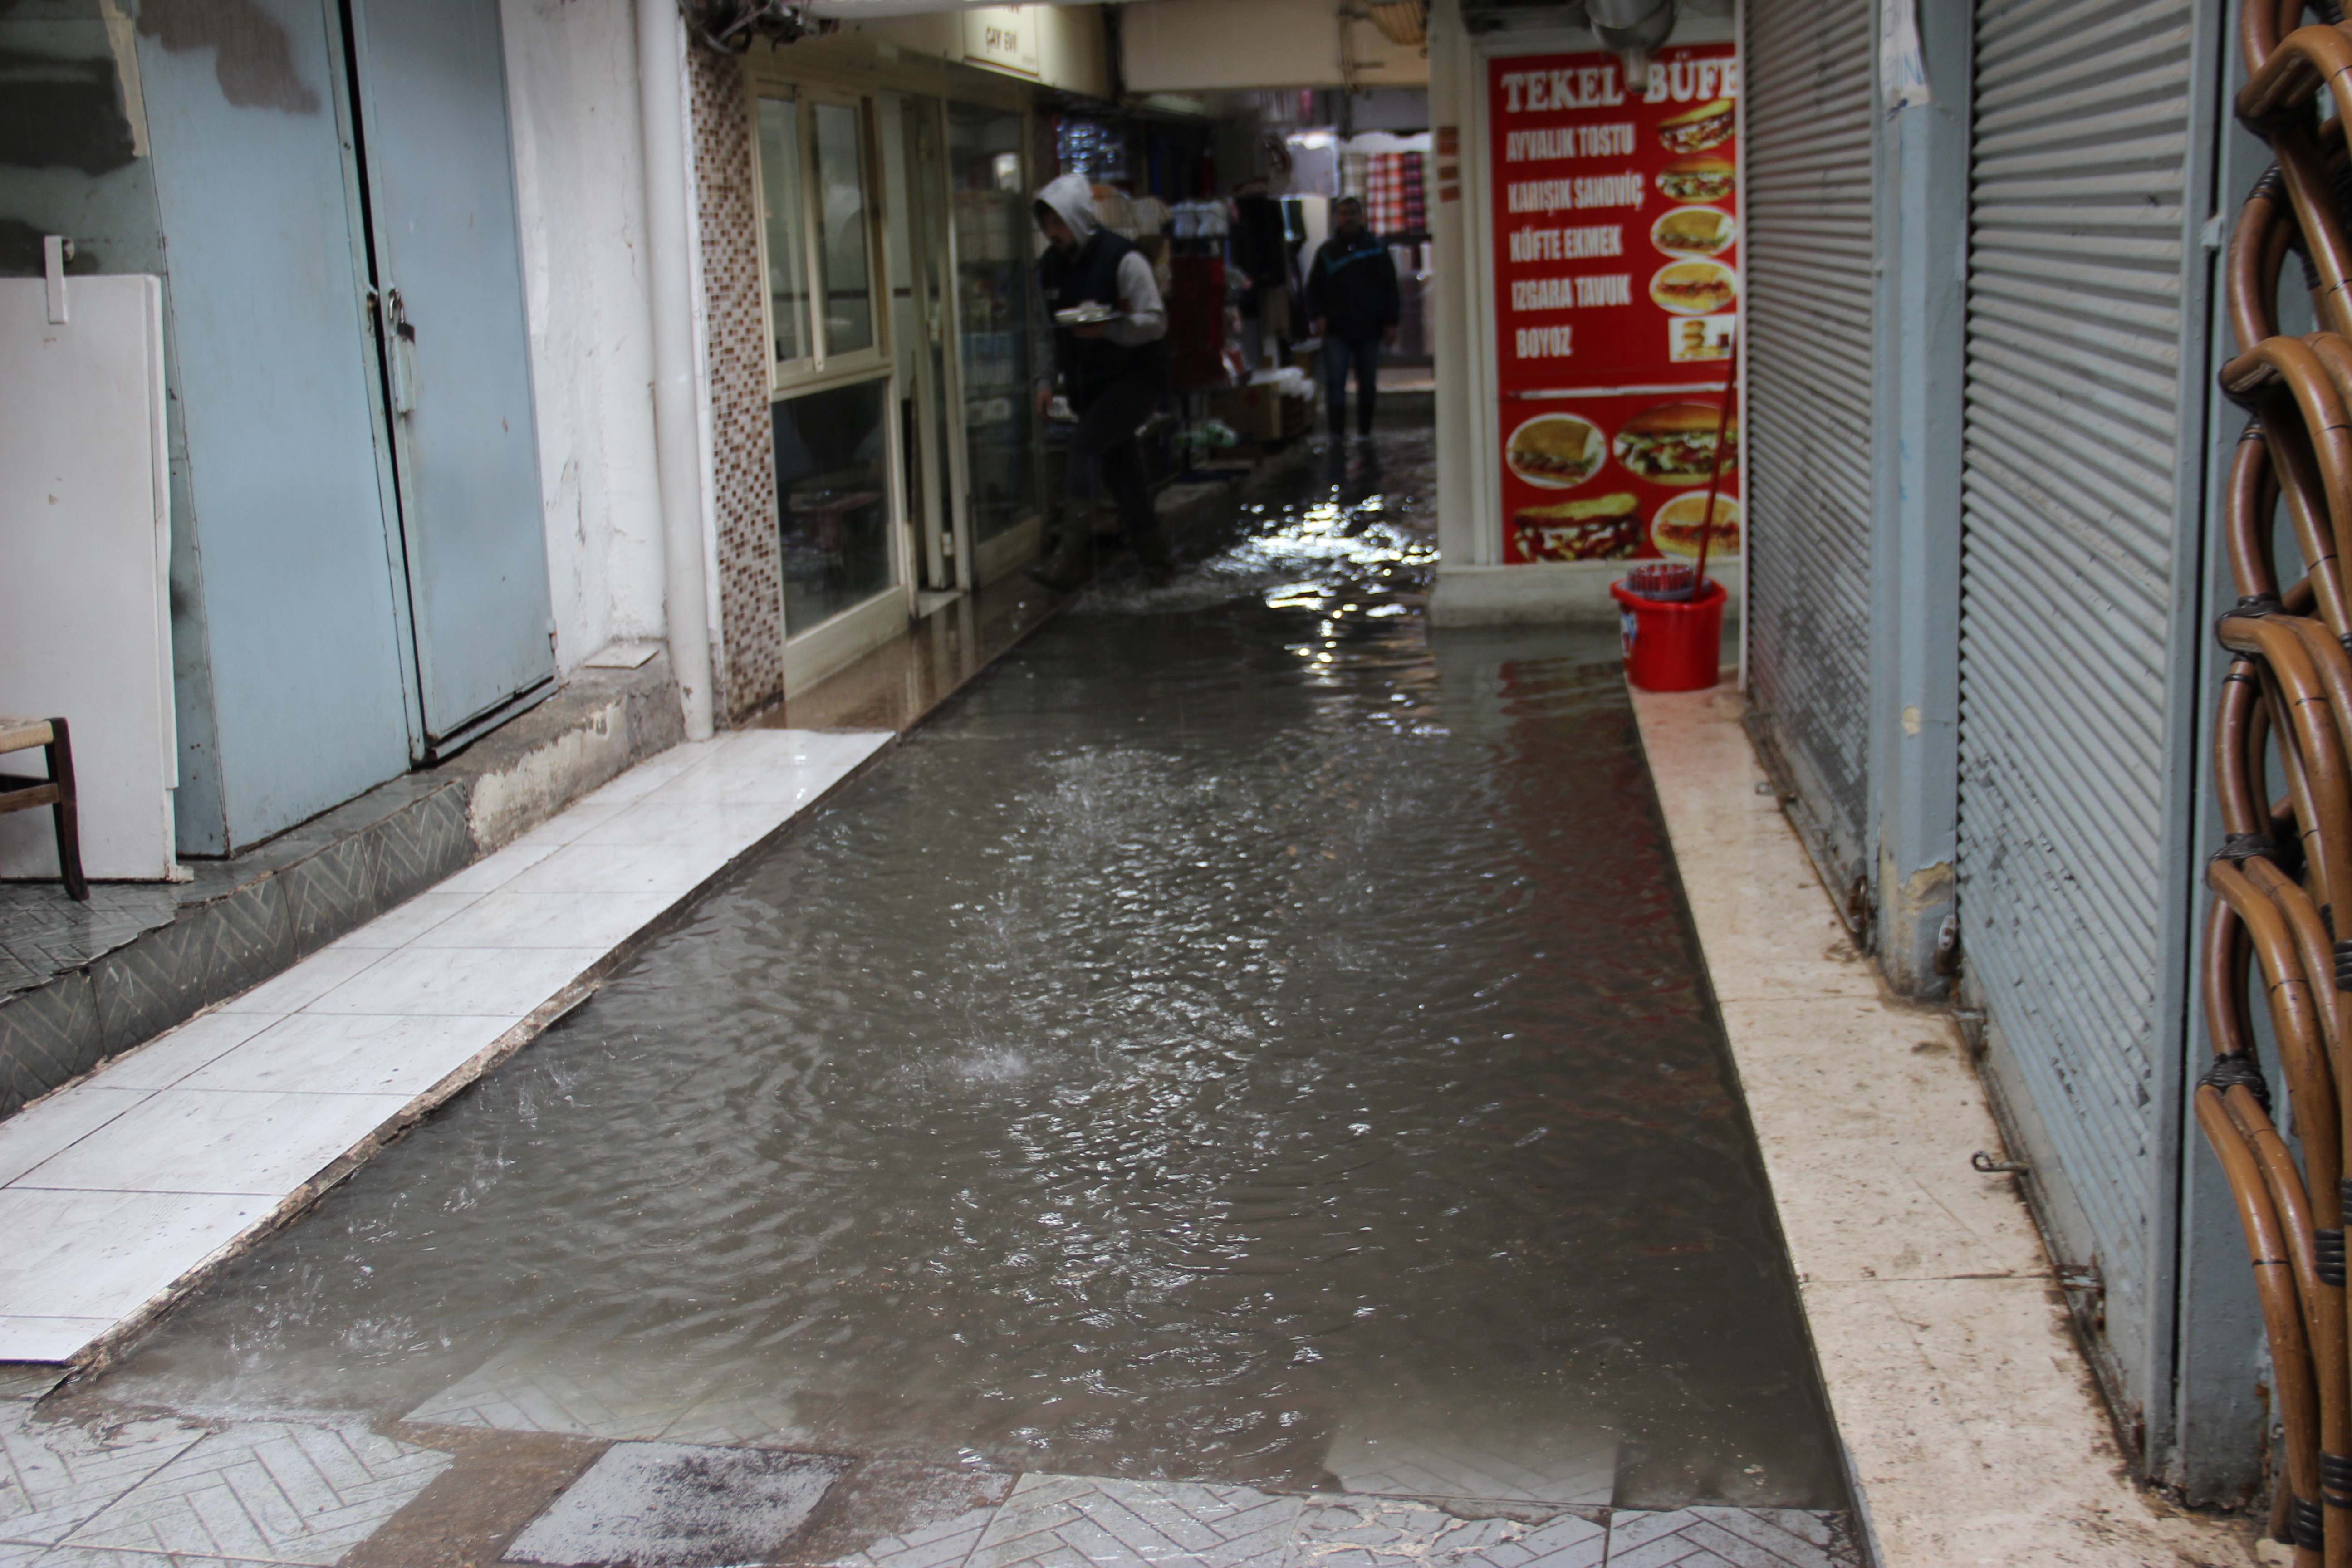
<instances>
[{"instance_id":1,"label":"beige marble slab ledge along the foot of the roller shutters","mask_svg":"<svg viewBox=\"0 0 2352 1568\"><path fill-rule=\"evenodd\" d=\"M1969 1166L2002 1133L1959 1025L1846 940L1733 675L1632 708L1872 1561L2251 1561L2131 1483L2016 1182Z\"/></svg>"}]
</instances>

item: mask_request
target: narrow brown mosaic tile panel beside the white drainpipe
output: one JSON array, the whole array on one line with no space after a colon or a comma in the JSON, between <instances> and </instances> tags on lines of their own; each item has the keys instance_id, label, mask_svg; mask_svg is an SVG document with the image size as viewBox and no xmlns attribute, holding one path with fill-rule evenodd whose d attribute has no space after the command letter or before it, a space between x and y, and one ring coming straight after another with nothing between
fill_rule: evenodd
<instances>
[{"instance_id":1,"label":"narrow brown mosaic tile panel beside the white drainpipe","mask_svg":"<svg viewBox=\"0 0 2352 1568\"><path fill-rule=\"evenodd\" d=\"M783 543L760 308L760 200L743 61L689 49L694 188L710 310L710 444L717 477L717 708L743 719L783 696Z\"/></svg>"}]
</instances>

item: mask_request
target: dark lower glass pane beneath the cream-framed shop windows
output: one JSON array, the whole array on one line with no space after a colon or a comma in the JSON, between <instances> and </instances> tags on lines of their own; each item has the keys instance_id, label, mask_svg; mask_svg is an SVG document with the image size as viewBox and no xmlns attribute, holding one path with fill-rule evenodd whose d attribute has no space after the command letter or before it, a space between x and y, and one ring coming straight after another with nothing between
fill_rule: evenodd
<instances>
[{"instance_id":1,"label":"dark lower glass pane beneath the cream-framed shop windows","mask_svg":"<svg viewBox=\"0 0 2352 1568\"><path fill-rule=\"evenodd\" d=\"M774 409L783 632L795 637L891 585L889 378L797 393Z\"/></svg>"}]
</instances>

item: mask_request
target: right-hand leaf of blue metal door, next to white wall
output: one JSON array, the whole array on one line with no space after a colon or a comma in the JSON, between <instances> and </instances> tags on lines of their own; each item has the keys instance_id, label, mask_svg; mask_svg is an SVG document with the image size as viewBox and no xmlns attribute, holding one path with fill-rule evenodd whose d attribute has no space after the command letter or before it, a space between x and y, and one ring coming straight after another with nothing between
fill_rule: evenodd
<instances>
[{"instance_id":1,"label":"right-hand leaf of blue metal door, next to white wall","mask_svg":"<svg viewBox=\"0 0 2352 1568\"><path fill-rule=\"evenodd\" d=\"M426 755L555 675L496 0L353 0Z\"/></svg>"}]
</instances>

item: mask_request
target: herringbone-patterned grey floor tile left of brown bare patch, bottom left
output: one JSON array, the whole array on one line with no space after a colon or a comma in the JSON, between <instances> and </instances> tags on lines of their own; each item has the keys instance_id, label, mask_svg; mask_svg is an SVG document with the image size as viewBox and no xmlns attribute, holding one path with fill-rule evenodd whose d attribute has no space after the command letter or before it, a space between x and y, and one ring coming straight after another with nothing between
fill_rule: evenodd
<instances>
[{"instance_id":1,"label":"herringbone-patterned grey floor tile left of brown bare patch, bottom left","mask_svg":"<svg viewBox=\"0 0 2352 1568\"><path fill-rule=\"evenodd\" d=\"M447 1465L445 1453L360 1429L230 1427L134 1486L66 1544L325 1568Z\"/></svg>"}]
</instances>

